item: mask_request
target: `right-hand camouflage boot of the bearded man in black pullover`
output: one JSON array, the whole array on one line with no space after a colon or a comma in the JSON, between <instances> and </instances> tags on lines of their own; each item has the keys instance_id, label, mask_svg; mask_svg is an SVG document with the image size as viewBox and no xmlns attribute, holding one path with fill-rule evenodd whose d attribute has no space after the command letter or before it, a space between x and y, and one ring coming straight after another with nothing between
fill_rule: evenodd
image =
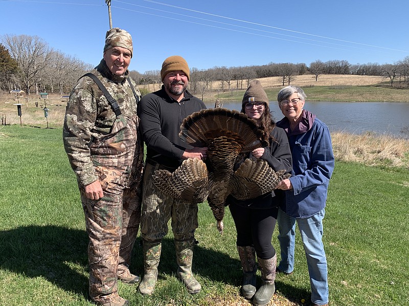
<instances>
[{"instance_id":1,"label":"right-hand camouflage boot of the bearded man in black pullover","mask_svg":"<svg viewBox=\"0 0 409 306\"><path fill-rule=\"evenodd\" d=\"M179 266L176 275L185 283L186 289L191 294L199 293L201 289L199 282L196 281L192 272L194 245L194 238L188 241L175 239L176 261Z\"/></svg>"}]
</instances>

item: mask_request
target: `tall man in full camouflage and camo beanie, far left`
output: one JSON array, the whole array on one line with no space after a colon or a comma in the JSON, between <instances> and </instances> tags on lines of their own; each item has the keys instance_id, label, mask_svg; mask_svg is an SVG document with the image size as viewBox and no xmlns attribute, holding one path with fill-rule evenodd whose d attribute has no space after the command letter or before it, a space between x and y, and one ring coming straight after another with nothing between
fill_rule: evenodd
<instances>
[{"instance_id":1,"label":"tall man in full camouflage and camo beanie, far left","mask_svg":"<svg viewBox=\"0 0 409 306\"><path fill-rule=\"evenodd\" d=\"M128 269L141 218L143 170L141 94L128 77L131 57L130 34L109 30L103 59L90 73L118 105L88 74L71 92L64 120L64 147L77 174L89 237L89 297L99 305L128 305L118 294L117 279L139 282Z\"/></svg>"}]
</instances>

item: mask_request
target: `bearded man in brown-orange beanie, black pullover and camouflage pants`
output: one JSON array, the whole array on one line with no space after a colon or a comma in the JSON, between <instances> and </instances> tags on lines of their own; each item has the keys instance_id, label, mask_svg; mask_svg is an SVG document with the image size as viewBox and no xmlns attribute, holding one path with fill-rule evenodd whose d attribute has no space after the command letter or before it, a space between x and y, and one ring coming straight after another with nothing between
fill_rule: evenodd
<instances>
[{"instance_id":1,"label":"bearded man in brown-orange beanie, black pullover and camouflage pants","mask_svg":"<svg viewBox=\"0 0 409 306\"><path fill-rule=\"evenodd\" d=\"M186 90L189 67L185 59L180 56L167 58L162 64L161 78L162 89L145 95L139 105L141 133L147 146L141 220L145 274L139 292L153 293L162 238L168 233L167 223L172 219L179 266L177 276L188 292L194 294L201 289L192 273L197 205L164 194L153 185L152 175L157 169L173 172L185 159L206 157L207 148L192 147L178 136L183 119L206 106Z\"/></svg>"}]
</instances>

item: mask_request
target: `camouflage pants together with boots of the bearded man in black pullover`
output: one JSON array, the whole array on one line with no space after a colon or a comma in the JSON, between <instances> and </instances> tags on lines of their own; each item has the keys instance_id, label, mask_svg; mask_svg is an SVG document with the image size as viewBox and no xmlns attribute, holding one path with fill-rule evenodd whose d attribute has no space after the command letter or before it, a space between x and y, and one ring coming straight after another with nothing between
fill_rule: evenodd
<instances>
[{"instance_id":1,"label":"camouflage pants together with boots of the bearded man in black pullover","mask_svg":"<svg viewBox=\"0 0 409 306\"><path fill-rule=\"evenodd\" d=\"M141 235L144 240L144 245L145 243L146 245L153 245L155 242L162 241L162 238L165 237L168 233L168 221L169 219L171 219L172 231L175 237L176 258L179 265L177 274L180 274L180 277L182 275L186 275L186 279L191 278L193 277L191 272L191 265L193 257L193 244L195 241L194 233L198 226L198 208L197 205L192 205L192 203L190 202L174 199L157 189L153 185L153 181L151 179L154 171L157 169L163 168L158 164L152 165L149 162L146 163L143 179L143 201L141 218ZM155 250L148 251L148 249L146 249L147 251L145 252L144 246L145 274L153 275L151 272L149 272L154 271L153 269L151 269L151 265L149 262L153 258L152 256L150 256L150 254L157 254L157 252ZM154 257L154 259L155 261L157 260L158 264L160 260L160 251L159 256ZM145 282L144 276L140 285L141 293L153 293L154 283L156 282L157 276L157 264L155 262L155 277L150 276L149 278L147 278L150 280L152 280L153 278L155 279L153 282L153 286L152 281L150 281L149 283ZM148 271L146 267L148 267ZM182 278L185 279L184 277ZM196 282L195 279L194 281ZM190 283L190 281L188 283ZM189 292L193 291L192 293L197 293L200 291L199 283L194 286L192 285L192 288L189 288L189 285L187 286ZM148 288L151 288L151 290Z\"/></svg>"}]
</instances>

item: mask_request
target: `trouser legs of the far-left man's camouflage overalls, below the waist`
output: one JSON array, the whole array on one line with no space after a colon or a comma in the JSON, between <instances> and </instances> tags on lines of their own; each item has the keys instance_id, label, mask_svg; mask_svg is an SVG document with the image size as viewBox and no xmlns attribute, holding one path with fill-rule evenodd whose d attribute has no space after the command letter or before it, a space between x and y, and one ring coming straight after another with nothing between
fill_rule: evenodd
<instances>
[{"instance_id":1,"label":"trouser legs of the far-left man's camouflage overalls, below the waist","mask_svg":"<svg viewBox=\"0 0 409 306\"><path fill-rule=\"evenodd\" d=\"M104 196L85 197L79 185L89 238L89 296L109 302L118 295L118 269L127 269L141 219L140 188L125 188L131 167L95 167ZM118 266L120 264L120 266Z\"/></svg>"}]
</instances>

